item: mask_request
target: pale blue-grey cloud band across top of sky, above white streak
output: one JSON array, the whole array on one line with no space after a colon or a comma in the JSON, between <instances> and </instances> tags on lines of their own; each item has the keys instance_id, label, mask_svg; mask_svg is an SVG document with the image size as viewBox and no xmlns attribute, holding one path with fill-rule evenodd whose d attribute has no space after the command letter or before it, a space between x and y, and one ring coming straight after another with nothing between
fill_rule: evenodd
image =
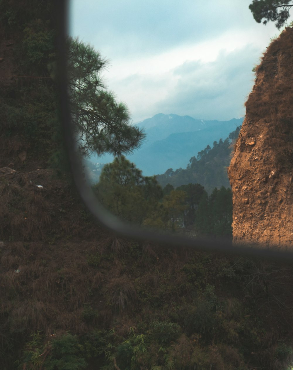
<instances>
[{"instance_id":1,"label":"pale blue-grey cloud band across top of sky, above white streak","mask_svg":"<svg viewBox=\"0 0 293 370\"><path fill-rule=\"evenodd\" d=\"M183 44L204 42L227 29L258 25L251 0L73 0L71 33L86 35L107 58L151 56ZM263 27L263 26L262 26ZM83 36L82 36L83 37Z\"/></svg>"}]
</instances>

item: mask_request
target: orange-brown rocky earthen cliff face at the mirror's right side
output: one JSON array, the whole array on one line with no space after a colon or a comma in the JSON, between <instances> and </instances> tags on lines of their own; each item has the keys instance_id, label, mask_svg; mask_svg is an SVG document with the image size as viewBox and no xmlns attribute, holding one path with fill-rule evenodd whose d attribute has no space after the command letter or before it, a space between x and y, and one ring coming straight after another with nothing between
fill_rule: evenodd
<instances>
[{"instance_id":1,"label":"orange-brown rocky earthen cliff face at the mirror's right side","mask_svg":"<svg viewBox=\"0 0 293 370\"><path fill-rule=\"evenodd\" d=\"M256 67L228 175L234 243L293 247L293 28Z\"/></svg>"}]
</instances>

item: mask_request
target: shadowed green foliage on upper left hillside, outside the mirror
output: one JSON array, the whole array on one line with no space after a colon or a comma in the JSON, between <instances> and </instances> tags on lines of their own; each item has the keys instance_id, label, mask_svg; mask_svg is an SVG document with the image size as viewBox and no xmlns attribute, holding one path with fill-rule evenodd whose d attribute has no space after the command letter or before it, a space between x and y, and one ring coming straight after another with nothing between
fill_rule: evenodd
<instances>
[{"instance_id":1,"label":"shadowed green foliage on upper left hillside, outside the mirror","mask_svg":"<svg viewBox=\"0 0 293 370\"><path fill-rule=\"evenodd\" d=\"M4 27L7 33L15 33L14 74L18 75L15 85L6 87L1 96L1 121L6 137L16 135L29 148L28 155L44 162L52 156L54 166L62 167L66 155L55 155L62 152L63 142L57 85L48 69L57 59L56 30L49 9L50 1L41 6L35 0L0 2Z\"/></svg>"}]
</instances>

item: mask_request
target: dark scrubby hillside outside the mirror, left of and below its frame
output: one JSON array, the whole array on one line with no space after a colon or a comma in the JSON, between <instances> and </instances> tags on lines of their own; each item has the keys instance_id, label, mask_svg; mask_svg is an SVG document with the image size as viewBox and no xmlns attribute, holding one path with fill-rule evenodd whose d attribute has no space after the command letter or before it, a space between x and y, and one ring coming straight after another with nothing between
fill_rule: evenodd
<instances>
[{"instance_id":1,"label":"dark scrubby hillside outside the mirror, left of and below its frame","mask_svg":"<svg viewBox=\"0 0 293 370\"><path fill-rule=\"evenodd\" d=\"M81 202L61 135L55 10L0 2L1 369L291 369L292 263L121 238Z\"/></svg>"}]
</instances>

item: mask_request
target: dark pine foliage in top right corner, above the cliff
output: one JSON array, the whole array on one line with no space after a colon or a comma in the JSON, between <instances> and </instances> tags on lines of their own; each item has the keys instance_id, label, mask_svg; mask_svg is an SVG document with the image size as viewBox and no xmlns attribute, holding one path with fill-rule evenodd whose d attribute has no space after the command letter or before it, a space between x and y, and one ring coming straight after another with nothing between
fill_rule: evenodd
<instances>
[{"instance_id":1,"label":"dark pine foliage in top right corner, above the cliff","mask_svg":"<svg viewBox=\"0 0 293 370\"><path fill-rule=\"evenodd\" d=\"M249 5L256 22L267 24L268 21L276 22L279 30L290 16L289 10L293 6L292 0L253 0Z\"/></svg>"}]
</instances>

